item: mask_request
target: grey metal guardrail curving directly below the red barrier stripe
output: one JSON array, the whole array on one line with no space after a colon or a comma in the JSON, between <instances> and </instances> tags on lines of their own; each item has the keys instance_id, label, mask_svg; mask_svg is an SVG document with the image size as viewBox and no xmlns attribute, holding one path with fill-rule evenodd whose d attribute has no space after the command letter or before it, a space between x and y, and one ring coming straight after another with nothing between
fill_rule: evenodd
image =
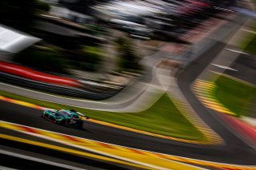
<instances>
[{"instance_id":1,"label":"grey metal guardrail curving directly below the red barrier stripe","mask_svg":"<svg viewBox=\"0 0 256 170\"><path fill-rule=\"evenodd\" d=\"M70 97L81 97L91 100L104 100L114 96L122 89L112 90L110 93L94 92L86 89L79 89L64 85L54 85L41 81L34 81L24 77L19 77L14 74L0 72L0 81L8 82L14 85L21 85L32 89L38 89L49 93L56 93Z\"/></svg>"}]
</instances>

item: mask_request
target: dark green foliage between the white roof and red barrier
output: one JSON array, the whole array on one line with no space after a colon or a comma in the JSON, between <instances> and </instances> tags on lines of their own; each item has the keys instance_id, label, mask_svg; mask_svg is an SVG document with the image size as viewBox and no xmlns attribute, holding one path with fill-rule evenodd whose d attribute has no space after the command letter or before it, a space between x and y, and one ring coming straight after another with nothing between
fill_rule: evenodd
<instances>
[{"instance_id":1,"label":"dark green foliage between the white roof and red barrier","mask_svg":"<svg viewBox=\"0 0 256 170\"><path fill-rule=\"evenodd\" d=\"M45 71L67 73L62 53L50 48L38 49L30 47L24 49L14 56L14 61Z\"/></svg>"}]
</instances>

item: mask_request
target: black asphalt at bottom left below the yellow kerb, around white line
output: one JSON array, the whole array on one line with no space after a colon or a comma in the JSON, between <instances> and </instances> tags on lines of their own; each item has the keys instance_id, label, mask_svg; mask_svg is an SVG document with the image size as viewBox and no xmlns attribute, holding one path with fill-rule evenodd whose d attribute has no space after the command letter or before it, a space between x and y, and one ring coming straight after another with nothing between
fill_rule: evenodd
<instances>
[{"instance_id":1,"label":"black asphalt at bottom left below the yellow kerb, around white line","mask_svg":"<svg viewBox=\"0 0 256 170\"><path fill-rule=\"evenodd\" d=\"M16 169L91 169L91 170L101 170L101 169L120 169L120 170L129 170L129 169L141 169L130 167L124 164L118 164L114 162L107 162L106 160L98 160L86 156L78 156L68 152L60 152L50 148L41 148L38 146L23 144L17 141L10 140L0 140L0 148L3 151L18 153L25 156L30 156L38 158L40 160L30 160L22 156L13 156L6 155L0 152L0 166ZM46 164L43 160L51 161L57 164L68 165L68 167L59 167L54 164ZM15 163L15 164L14 164Z\"/></svg>"}]
</instances>

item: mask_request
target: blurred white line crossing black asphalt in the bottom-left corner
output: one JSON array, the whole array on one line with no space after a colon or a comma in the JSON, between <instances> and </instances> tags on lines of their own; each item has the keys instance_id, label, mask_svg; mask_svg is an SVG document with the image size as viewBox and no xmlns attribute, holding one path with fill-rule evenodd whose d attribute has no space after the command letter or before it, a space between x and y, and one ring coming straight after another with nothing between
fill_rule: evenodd
<instances>
[{"instance_id":1,"label":"blurred white line crossing black asphalt in the bottom-left corner","mask_svg":"<svg viewBox=\"0 0 256 170\"><path fill-rule=\"evenodd\" d=\"M69 168L69 169L74 169L74 170L84 170L84 168L76 168L76 167L73 167L73 166L70 166L70 165L59 164L59 163L56 163L56 162L53 162L53 161L50 161L50 160L43 160L43 159L40 159L40 158L36 158L36 157L32 157L32 156L26 156L26 155L22 155L22 154L15 153L15 152L9 152L9 151L5 151L5 150L2 150L2 149L0 150L0 152L4 155L7 155L7 156L14 156L14 157L18 157L18 158L21 158L21 159L24 159L24 160L32 160L32 161L39 162L39 163L42 163L42 164L50 164L50 165L53 165L55 167Z\"/></svg>"}]
</instances>

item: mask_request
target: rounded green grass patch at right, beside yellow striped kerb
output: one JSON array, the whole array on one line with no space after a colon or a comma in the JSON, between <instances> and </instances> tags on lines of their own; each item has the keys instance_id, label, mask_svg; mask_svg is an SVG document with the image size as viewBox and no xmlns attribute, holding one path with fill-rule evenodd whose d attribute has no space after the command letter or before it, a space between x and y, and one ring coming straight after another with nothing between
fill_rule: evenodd
<instances>
[{"instance_id":1,"label":"rounded green grass patch at right, beside yellow striped kerb","mask_svg":"<svg viewBox=\"0 0 256 170\"><path fill-rule=\"evenodd\" d=\"M248 115L252 99L256 96L256 87L236 81L230 77L220 76L215 81L215 95L227 109L236 113L237 117Z\"/></svg>"}]
</instances>

